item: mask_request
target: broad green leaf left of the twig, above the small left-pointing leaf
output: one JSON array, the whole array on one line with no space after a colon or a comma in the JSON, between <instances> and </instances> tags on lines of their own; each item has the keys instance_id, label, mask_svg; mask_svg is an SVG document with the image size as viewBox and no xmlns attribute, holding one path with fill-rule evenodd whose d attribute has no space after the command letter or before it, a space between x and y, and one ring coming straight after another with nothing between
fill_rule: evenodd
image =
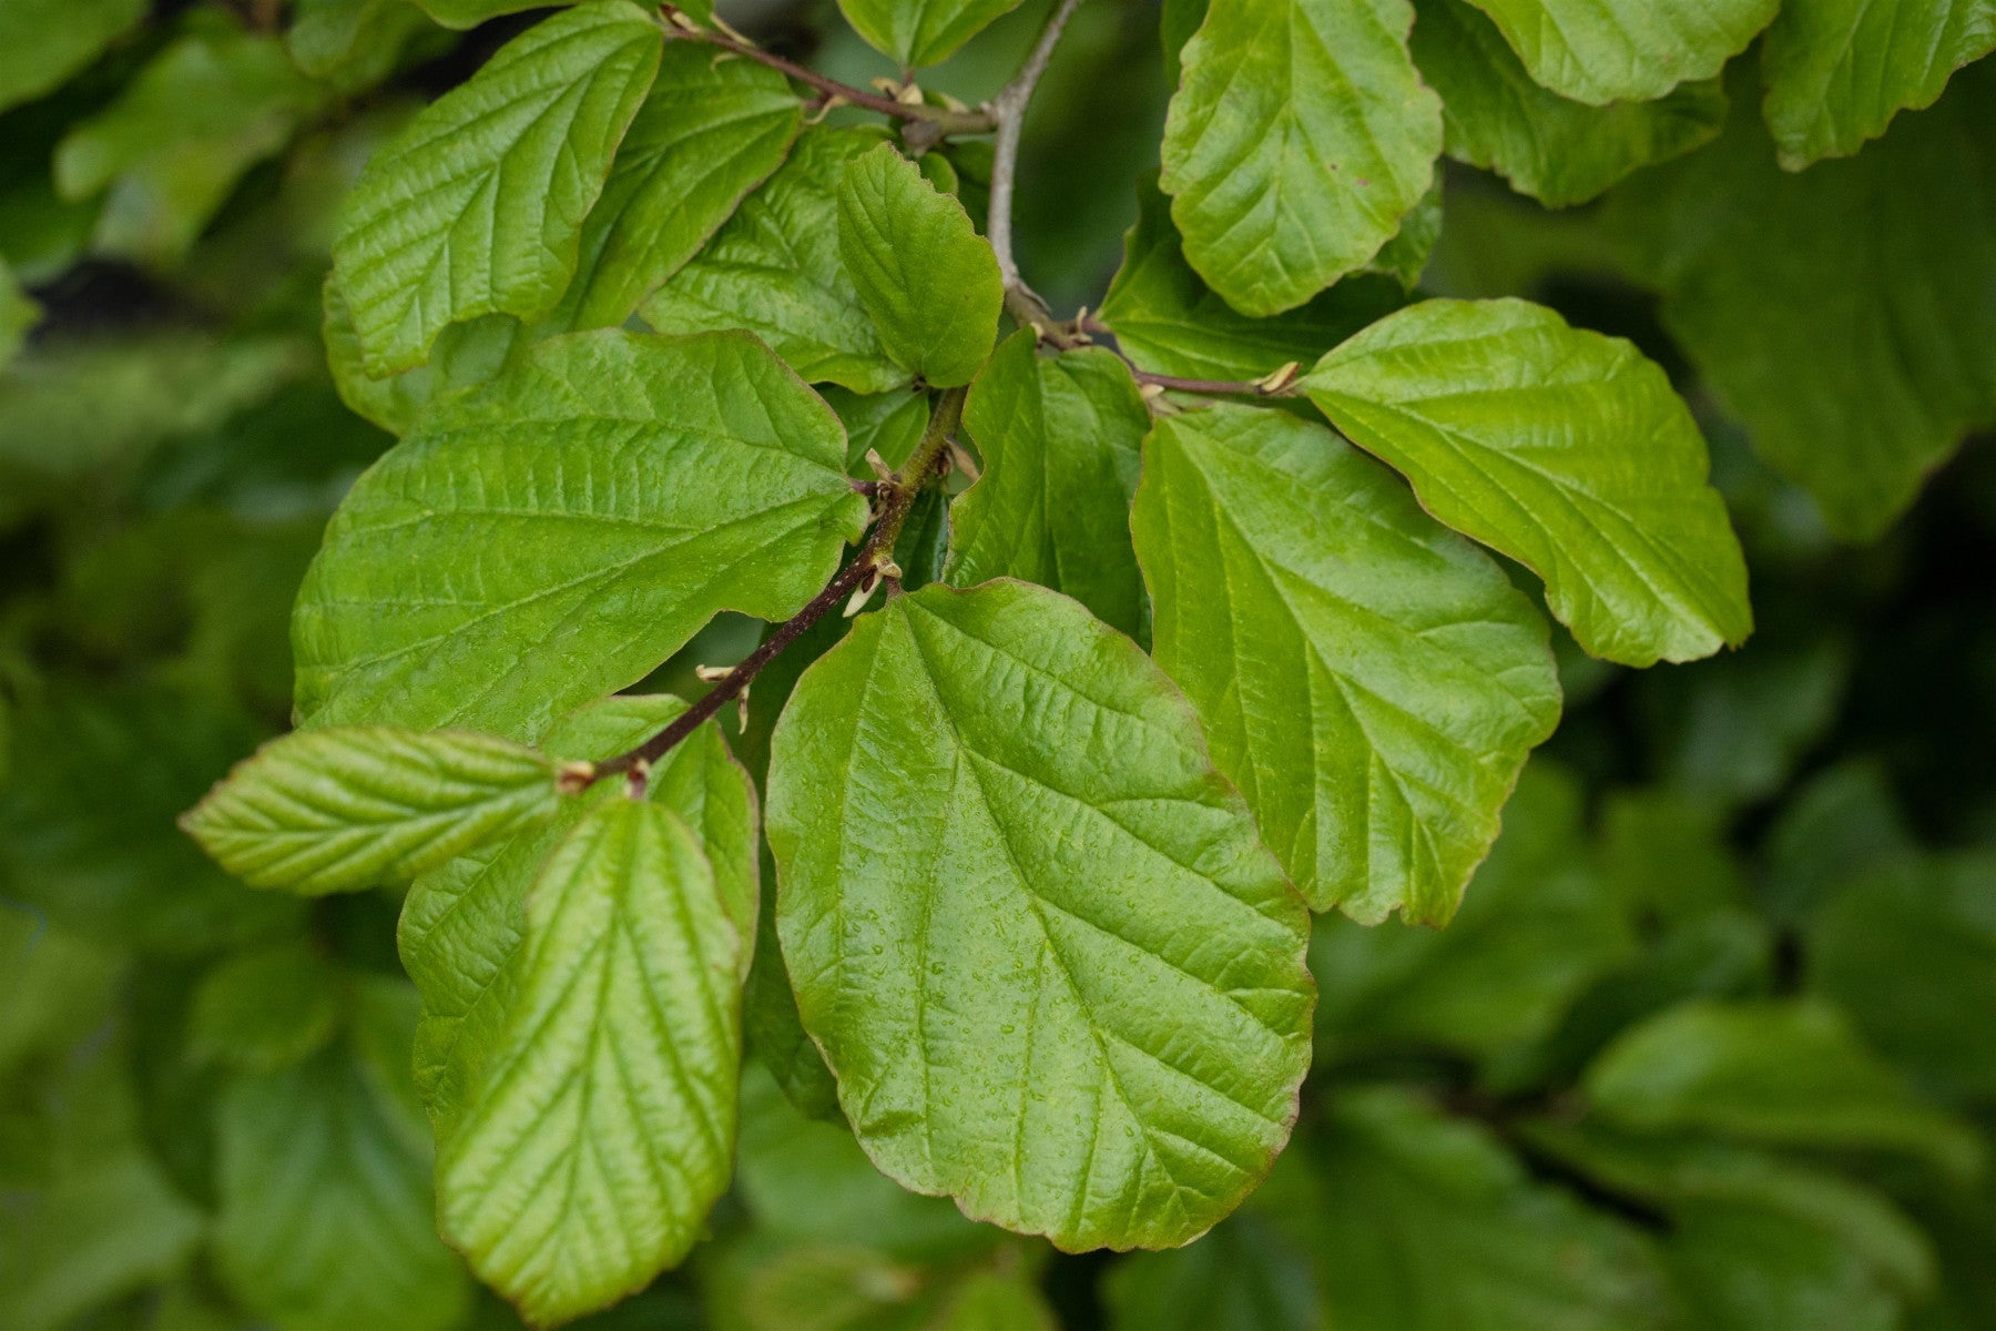
<instances>
[{"instance_id":1,"label":"broad green leaf left of the twig, above the small left-pointing leaf","mask_svg":"<svg viewBox=\"0 0 1996 1331\"><path fill-rule=\"evenodd\" d=\"M347 493L299 591L299 712L537 736L717 611L800 611L866 521L844 459L745 333L545 341Z\"/></svg>"}]
</instances>

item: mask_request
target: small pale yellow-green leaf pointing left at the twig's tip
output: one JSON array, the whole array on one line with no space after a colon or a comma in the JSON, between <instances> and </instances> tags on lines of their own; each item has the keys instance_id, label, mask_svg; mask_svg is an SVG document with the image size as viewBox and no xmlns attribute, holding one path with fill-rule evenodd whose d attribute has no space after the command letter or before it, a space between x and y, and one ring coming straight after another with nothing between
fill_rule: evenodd
<instances>
[{"instance_id":1,"label":"small pale yellow-green leaf pointing left at the twig's tip","mask_svg":"<svg viewBox=\"0 0 1996 1331\"><path fill-rule=\"evenodd\" d=\"M295 730L240 762L180 826L253 888L401 882L555 812L555 764L453 730Z\"/></svg>"}]
</instances>

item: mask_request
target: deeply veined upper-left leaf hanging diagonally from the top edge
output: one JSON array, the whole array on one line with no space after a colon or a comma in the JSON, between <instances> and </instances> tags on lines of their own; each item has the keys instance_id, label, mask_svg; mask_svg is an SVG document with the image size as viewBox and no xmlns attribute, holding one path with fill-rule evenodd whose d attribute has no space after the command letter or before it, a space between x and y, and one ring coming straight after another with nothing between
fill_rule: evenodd
<instances>
[{"instance_id":1,"label":"deeply veined upper-left leaf hanging diagonally from the top edge","mask_svg":"<svg viewBox=\"0 0 1996 1331\"><path fill-rule=\"evenodd\" d=\"M375 154L333 243L369 375L421 365L449 323L555 307L659 50L629 0L565 10Z\"/></svg>"}]
</instances>

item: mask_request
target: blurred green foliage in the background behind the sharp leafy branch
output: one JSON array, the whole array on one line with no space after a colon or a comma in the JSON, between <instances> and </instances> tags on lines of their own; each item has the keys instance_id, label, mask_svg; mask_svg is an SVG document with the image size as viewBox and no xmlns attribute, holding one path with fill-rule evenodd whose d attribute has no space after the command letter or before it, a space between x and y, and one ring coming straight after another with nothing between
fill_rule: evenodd
<instances>
[{"instance_id":1,"label":"blurred green foliage in the background behind the sharp leafy branch","mask_svg":"<svg viewBox=\"0 0 1996 1331\"><path fill-rule=\"evenodd\" d=\"M395 896L250 892L172 822L287 724L293 591L391 443L325 371L333 214L531 20L425 8L0 2L0 1327L517 1325L435 1239ZM990 94L1042 8L928 82ZM840 78L892 74L824 0L723 14ZM1156 4L1084 6L1036 102L1020 257L1060 311L1100 301L1156 164L1158 32ZM585 1325L1996 1327L1996 451L1970 443L1874 543L1832 541L1758 461L1806 449L1782 397L1842 375L1820 391L1940 419L1958 385L1784 367L1727 315L1770 299L1778 247L1828 291L1904 279L1848 249L1956 263L1928 275L1996 301L1960 257L1996 235L1922 249L1946 218L1838 202L1938 118L1990 148L1990 100L1956 84L1810 186L1766 174L1752 116L1569 212L1447 176L1423 287L1529 295L1673 369L1760 629L1645 674L1561 647L1569 714L1457 922L1319 922L1317 1070L1238 1217L1130 1257L972 1225L880 1177L814 1060L764 1042L713 1239ZM655 684L695 688L754 635L717 623Z\"/></svg>"}]
</instances>

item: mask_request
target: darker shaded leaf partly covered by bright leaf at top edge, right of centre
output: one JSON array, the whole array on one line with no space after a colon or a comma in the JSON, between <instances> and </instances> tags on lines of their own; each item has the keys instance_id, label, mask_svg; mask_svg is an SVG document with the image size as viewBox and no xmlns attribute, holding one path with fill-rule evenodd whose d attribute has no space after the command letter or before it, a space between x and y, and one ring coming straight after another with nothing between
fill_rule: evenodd
<instances>
[{"instance_id":1,"label":"darker shaded leaf partly covered by bright leaf at top edge, right of centre","mask_svg":"<svg viewBox=\"0 0 1996 1331\"><path fill-rule=\"evenodd\" d=\"M1655 102L1587 106L1531 82L1503 34L1467 0L1419 0L1411 50L1441 94L1449 156L1497 172L1551 208L1585 204L1629 172L1719 138L1719 80Z\"/></svg>"}]
</instances>

